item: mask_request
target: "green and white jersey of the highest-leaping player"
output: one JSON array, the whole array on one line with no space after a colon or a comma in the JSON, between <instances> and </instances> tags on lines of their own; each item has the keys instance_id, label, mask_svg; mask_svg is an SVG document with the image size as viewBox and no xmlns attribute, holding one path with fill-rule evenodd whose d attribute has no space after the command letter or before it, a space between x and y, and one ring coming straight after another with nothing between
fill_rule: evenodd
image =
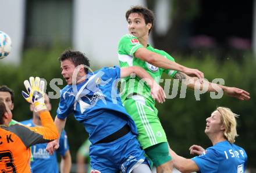
<instances>
[{"instance_id":1,"label":"green and white jersey of the highest-leaping player","mask_svg":"<svg viewBox=\"0 0 256 173\"><path fill-rule=\"evenodd\" d=\"M157 83L159 83L163 72L170 75L170 77L173 77L176 74L177 71L175 70L161 69L153 66L148 62L144 62L143 60L136 58L134 56L134 53L137 51L138 48L144 48L144 46L140 44L140 42L136 37L134 37L134 35L126 34L120 39L118 44L118 57L120 67L140 66L145 69L147 73L149 73ZM154 49L149 44L147 45L147 49L149 51L158 53L159 55L162 55L173 62L175 61L173 57L165 51ZM145 98L150 99L151 102L154 103L154 100L150 96L150 87L148 87L145 82L140 82L140 78L138 77L126 77L122 79L121 88L122 92L120 92L120 95L122 97L122 102L133 93L138 93Z\"/></svg>"}]
</instances>

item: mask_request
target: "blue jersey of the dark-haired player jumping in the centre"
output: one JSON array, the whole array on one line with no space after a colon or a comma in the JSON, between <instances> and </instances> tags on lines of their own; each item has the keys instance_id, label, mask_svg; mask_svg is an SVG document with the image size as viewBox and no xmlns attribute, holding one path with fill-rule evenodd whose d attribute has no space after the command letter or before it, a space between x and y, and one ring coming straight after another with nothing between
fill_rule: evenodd
<instances>
[{"instance_id":1,"label":"blue jersey of the dark-haired player jumping in the centre","mask_svg":"<svg viewBox=\"0 0 256 173\"><path fill-rule=\"evenodd\" d=\"M58 118L64 119L74 113L76 120L83 123L92 144L125 124L137 135L134 121L123 107L118 93L119 78L119 67L105 67L88 73L80 84L67 85L61 90Z\"/></svg>"}]
</instances>

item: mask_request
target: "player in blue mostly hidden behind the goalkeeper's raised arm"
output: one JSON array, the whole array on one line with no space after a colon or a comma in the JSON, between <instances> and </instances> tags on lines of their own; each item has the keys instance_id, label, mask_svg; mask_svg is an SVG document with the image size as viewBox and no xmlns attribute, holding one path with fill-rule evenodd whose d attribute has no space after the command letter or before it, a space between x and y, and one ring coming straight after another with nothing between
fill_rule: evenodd
<instances>
[{"instance_id":1,"label":"player in blue mostly hidden behind the goalkeeper's raised arm","mask_svg":"<svg viewBox=\"0 0 256 173\"><path fill-rule=\"evenodd\" d=\"M44 95L44 102L47 109L51 111L51 103L47 96ZM27 125L29 127L35 127L41 125L41 120L39 114L34 111L33 104L30 104L30 111L33 111L33 118L30 120L22 121L22 124ZM31 170L33 173L40 172L52 172L58 173L58 161L57 154L61 155L61 170L60 172L70 172L71 168L71 156L69 152L69 143L67 142L66 132L63 130L59 139L59 149L54 152L54 154L50 155L45 149L47 147L47 143L39 143L31 146L31 154L34 158L31 161Z\"/></svg>"}]
</instances>

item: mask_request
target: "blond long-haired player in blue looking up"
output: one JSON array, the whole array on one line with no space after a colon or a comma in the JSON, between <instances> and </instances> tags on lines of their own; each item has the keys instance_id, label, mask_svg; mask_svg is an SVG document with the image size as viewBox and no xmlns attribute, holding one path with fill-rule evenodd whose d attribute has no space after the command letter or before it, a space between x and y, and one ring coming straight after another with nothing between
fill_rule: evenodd
<instances>
[{"instance_id":1,"label":"blond long-haired player in blue looking up","mask_svg":"<svg viewBox=\"0 0 256 173\"><path fill-rule=\"evenodd\" d=\"M173 164L181 172L245 172L247 164L246 151L234 144L236 138L236 114L226 107L218 107L211 117L206 119L205 134L212 142L204 150L201 146L190 147L191 154L200 156L186 159L172 150Z\"/></svg>"}]
</instances>

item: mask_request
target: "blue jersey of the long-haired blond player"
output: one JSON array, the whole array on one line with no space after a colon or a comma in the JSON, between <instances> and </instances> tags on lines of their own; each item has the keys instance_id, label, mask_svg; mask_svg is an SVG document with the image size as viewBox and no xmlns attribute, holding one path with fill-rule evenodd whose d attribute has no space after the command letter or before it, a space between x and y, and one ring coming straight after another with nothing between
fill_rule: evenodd
<instances>
[{"instance_id":1,"label":"blue jersey of the long-haired blond player","mask_svg":"<svg viewBox=\"0 0 256 173\"><path fill-rule=\"evenodd\" d=\"M245 172L247 154L243 148L225 140L209 147L192 160L200 168L200 172Z\"/></svg>"}]
</instances>

